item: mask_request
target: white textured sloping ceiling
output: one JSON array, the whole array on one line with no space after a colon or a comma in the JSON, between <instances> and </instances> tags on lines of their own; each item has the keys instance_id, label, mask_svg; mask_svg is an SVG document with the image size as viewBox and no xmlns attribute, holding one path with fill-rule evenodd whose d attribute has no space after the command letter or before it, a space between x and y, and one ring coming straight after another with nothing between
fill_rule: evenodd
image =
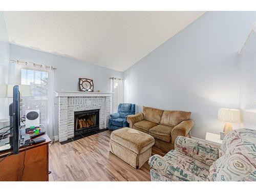
<instances>
[{"instance_id":1,"label":"white textured sloping ceiling","mask_svg":"<svg viewBox=\"0 0 256 192\"><path fill-rule=\"evenodd\" d=\"M12 44L125 71L203 11L4 12Z\"/></svg>"}]
</instances>

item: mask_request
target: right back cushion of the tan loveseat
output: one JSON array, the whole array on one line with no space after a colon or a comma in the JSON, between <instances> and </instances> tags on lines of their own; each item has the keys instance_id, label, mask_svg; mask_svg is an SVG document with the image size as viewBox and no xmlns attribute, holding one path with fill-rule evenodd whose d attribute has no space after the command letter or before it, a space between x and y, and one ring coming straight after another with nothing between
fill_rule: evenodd
<instances>
[{"instance_id":1,"label":"right back cushion of the tan loveseat","mask_svg":"<svg viewBox=\"0 0 256 192\"><path fill-rule=\"evenodd\" d=\"M161 124L176 126L184 120L188 120L191 112L185 111L164 111L161 121Z\"/></svg>"}]
</instances>

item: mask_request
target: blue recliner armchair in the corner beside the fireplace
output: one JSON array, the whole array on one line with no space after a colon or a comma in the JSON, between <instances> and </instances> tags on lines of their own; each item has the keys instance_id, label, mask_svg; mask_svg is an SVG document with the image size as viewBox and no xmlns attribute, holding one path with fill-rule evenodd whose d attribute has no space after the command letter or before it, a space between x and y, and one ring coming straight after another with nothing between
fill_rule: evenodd
<instances>
[{"instance_id":1,"label":"blue recliner armchair in the corner beside the fireplace","mask_svg":"<svg viewBox=\"0 0 256 192\"><path fill-rule=\"evenodd\" d=\"M120 103L118 105L117 113L110 115L109 130L117 130L122 127L129 127L129 123L126 121L127 115L135 114L135 104Z\"/></svg>"}]
</instances>

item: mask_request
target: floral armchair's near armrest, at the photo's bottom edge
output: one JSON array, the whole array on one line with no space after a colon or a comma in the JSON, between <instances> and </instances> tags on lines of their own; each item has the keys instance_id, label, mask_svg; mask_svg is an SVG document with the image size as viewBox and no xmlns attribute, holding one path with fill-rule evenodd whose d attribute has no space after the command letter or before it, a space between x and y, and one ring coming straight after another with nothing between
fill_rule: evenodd
<instances>
[{"instance_id":1,"label":"floral armchair's near armrest, at the photo's bottom edge","mask_svg":"<svg viewBox=\"0 0 256 192\"><path fill-rule=\"evenodd\" d=\"M150 164L151 169L164 176L162 178L168 178L171 181L203 181L199 176L183 169L181 164L166 161L160 155L150 157L148 164Z\"/></svg>"}]
</instances>

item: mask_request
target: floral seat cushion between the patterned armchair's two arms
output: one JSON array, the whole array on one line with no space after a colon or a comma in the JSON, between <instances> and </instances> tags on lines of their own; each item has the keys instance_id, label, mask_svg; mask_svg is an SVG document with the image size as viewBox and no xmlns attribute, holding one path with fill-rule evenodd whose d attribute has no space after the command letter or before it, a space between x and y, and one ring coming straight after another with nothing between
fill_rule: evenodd
<instances>
[{"instance_id":1,"label":"floral seat cushion between the patterned armchair's two arms","mask_svg":"<svg viewBox=\"0 0 256 192\"><path fill-rule=\"evenodd\" d=\"M207 179L207 176L209 175L208 165L192 157L189 157L181 152L172 150L164 156L164 159L166 159L167 162L173 162L173 164L181 166L181 168L187 170L193 175L200 177L204 181Z\"/></svg>"}]
</instances>

